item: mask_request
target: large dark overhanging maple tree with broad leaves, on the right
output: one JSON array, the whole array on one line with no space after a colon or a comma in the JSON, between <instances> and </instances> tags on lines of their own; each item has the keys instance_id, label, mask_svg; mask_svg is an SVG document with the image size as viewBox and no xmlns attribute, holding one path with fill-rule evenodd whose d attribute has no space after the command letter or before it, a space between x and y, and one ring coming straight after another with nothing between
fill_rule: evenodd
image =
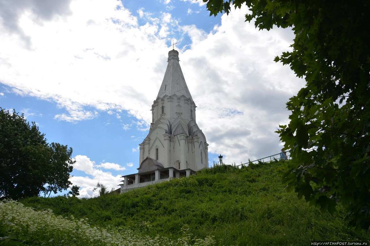
<instances>
[{"instance_id":1,"label":"large dark overhanging maple tree with broad leaves, on the right","mask_svg":"<svg viewBox=\"0 0 370 246\"><path fill-rule=\"evenodd\" d=\"M289 64L306 85L287 102L290 123L277 131L292 157L283 183L324 211L340 201L349 226L369 228L369 2L203 1L210 15L246 4L246 21L259 29L292 28L293 51L275 61Z\"/></svg>"}]
</instances>

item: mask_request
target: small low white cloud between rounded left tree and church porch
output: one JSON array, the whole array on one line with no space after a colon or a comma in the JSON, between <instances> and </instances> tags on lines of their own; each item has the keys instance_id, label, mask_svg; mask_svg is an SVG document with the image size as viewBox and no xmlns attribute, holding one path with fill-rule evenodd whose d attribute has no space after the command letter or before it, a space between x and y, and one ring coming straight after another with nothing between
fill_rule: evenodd
<instances>
[{"instance_id":1,"label":"small low white cloud between rounded left tree and church porch","mask_svg":"<svg viewBox=\"0 0 370 246\"><path fill-rule=\"evenodd\" d=\"M99 168L102 167L114 170L125 170L124 167L121 167L115 163L101 163L100 165L96 165L95 161L91 161L87 156L81 155L75 156L75 159L76 163L73 165L73 168L83 171L85 174L87 174L86 176L75 175L70 178L70 181L73 183L73 185L78 185L81 187L80 197L93 197L97 195L97 191L93 192L93 189L98 181L107 186L108 190L112 188L118 188L117 185L120 184L121 175L114 176L111 172L104 172Z\"/></svg>"}]
</instances>

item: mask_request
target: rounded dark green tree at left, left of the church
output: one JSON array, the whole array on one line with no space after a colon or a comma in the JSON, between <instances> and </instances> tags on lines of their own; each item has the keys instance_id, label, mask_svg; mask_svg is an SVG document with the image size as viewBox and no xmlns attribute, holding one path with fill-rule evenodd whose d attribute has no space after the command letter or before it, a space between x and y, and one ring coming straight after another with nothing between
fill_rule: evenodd
<instances>
[{"instance_id":1,"label":"rounded dark green tree at left, left of the church","mask_svg":"<svg viewBox=\"0 0 370 246\"><path fill-rule=\"evenodd\" d=\"M44 136L23 114L0 107L0 197L46 195L72 184L72 148L48 144Z\"/></svg>"}]
</instances>

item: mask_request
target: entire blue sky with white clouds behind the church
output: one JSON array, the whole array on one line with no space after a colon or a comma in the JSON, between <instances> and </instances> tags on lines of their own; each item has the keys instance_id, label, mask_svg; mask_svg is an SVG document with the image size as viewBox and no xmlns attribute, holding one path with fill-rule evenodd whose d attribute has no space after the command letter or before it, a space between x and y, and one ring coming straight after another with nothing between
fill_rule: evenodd
<instances>
[{"instance_id":1,"label":"entire blue sky with white clouds behind the church","mask_svg":"<svg viewBox=\"0 0 370 246\"><path fill-rule=\"evenodd\" d=\"M290 49L291 30L258 31L245 7L210 17L195 0L49 3L0 3L0 107L73 148L81 196L137 172L172 40L210 164L220 153L240 164L279 152L274 131L304 85L273 62Z\"/></svg>"}]
</instances>

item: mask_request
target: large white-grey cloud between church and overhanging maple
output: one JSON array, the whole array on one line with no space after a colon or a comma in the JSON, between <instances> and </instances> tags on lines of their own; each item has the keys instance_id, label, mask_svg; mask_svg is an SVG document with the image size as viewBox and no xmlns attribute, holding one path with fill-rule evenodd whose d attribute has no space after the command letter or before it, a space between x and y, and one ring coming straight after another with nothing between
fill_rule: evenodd
<instances>
[{"instance_id":1,"label":"large white-grey cloud between church and overhanging maple","mask_svg":"<svg viewBox=\"0 0 370 246\"><path fill-rule=\"evenodd\" d=\"M225 163L278 153L274 131L287 123L285 102L304 85L288 66L273 61L290 49L292 31L258 31L244 22L246 11L223 15L211 33L183 27L192 45L181 54L181 67L198 106L196 120L209 151L222 153Z\"/></svg>"}]
</instances>

